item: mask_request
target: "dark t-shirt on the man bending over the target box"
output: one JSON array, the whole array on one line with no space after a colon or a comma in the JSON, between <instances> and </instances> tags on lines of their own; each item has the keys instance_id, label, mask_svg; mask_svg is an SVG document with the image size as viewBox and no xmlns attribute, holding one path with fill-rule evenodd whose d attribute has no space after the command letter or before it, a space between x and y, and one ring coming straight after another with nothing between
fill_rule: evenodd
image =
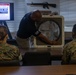
<instances>
[{"instance_id":1,"label":"dark t-shirt on the man bending over the target box","mask_svg":"<svg viewBox=\"0 0 76 75\"><path fill-rule=\"evenodd\" d=\"M31 35L38 36L41 32L35 26L35 21L30 18L31 13L25 14L22 18L17 36L20 38L29 38Z\"/></svg>"}]
</instances>

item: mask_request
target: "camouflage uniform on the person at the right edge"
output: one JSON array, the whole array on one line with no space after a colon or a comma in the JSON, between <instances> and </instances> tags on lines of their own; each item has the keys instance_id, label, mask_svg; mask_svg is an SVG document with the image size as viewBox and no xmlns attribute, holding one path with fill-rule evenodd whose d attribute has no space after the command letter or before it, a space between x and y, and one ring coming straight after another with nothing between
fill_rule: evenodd
<instances>
[{"instance_id":1,"label":"camouflage uniform on the person at the right edge","mask_svg":"<svg viewBox=\"0 0 76 75\"><path fill-rule=\"evenodd\" d=\"M69 64L70 61L76 62L76 39L64 46L62 64Z\"/></svg>"}]
</instances>

